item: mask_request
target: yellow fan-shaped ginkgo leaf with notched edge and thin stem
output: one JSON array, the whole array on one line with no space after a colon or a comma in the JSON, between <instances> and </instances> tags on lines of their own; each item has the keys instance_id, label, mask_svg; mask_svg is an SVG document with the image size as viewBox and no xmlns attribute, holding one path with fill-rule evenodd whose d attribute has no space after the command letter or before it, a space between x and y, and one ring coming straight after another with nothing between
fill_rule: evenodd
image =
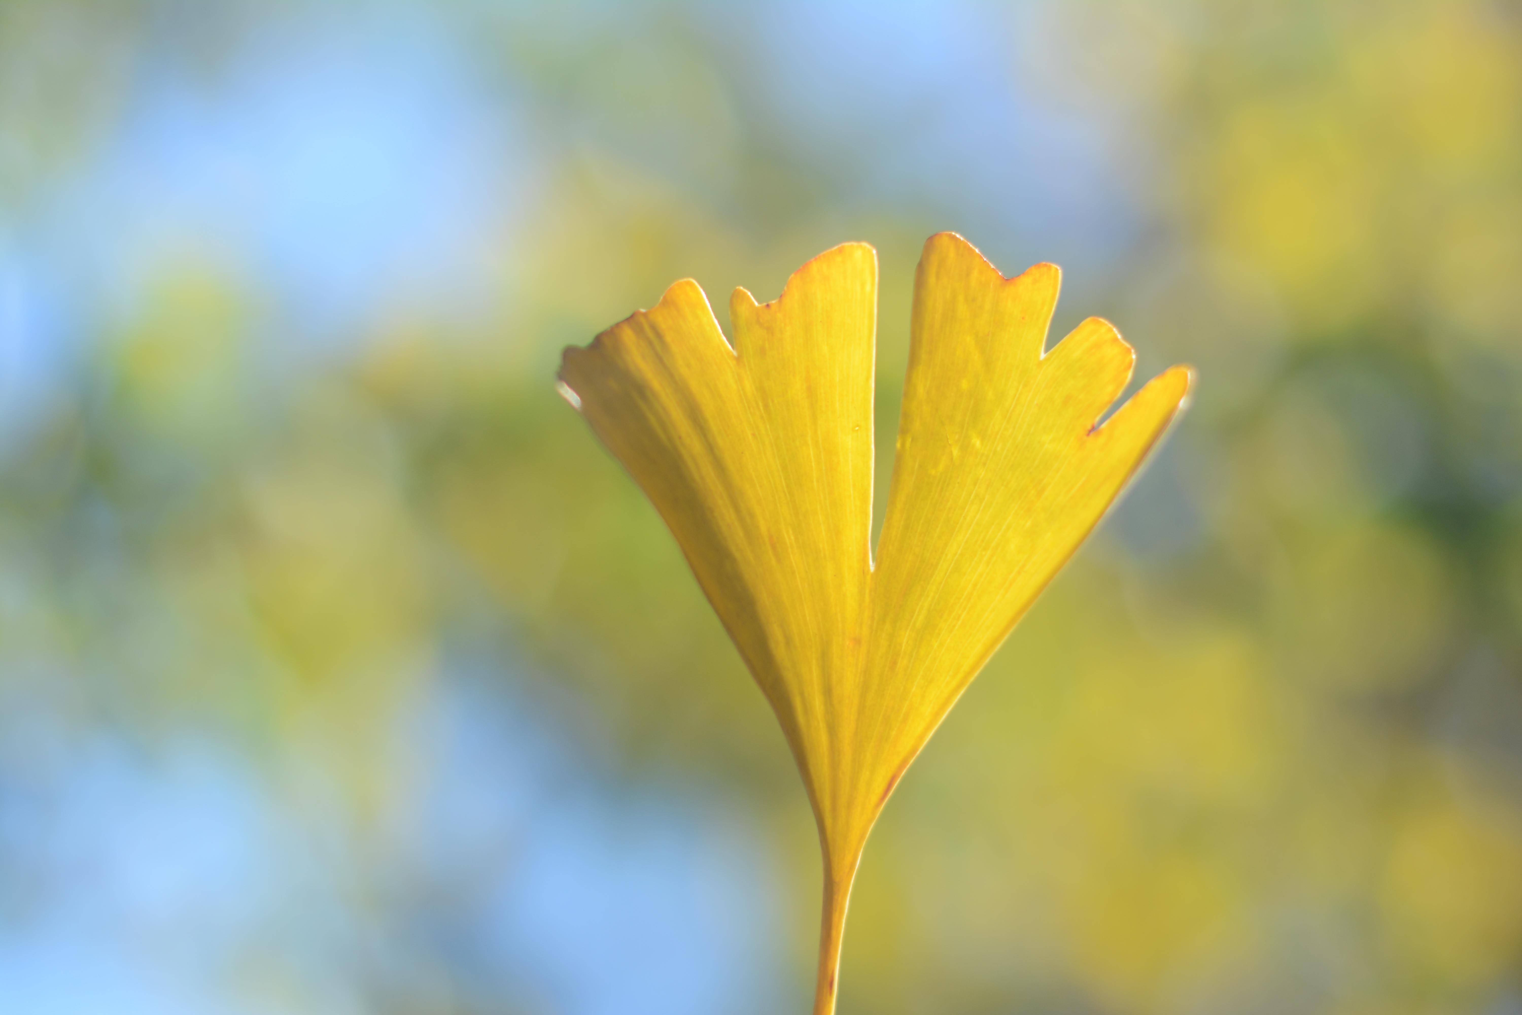
<instances>
[{"instance_id":1,"label":"yellow fan-shaped ginkgo leaf with notched edge and thin stem","mask_svg":"<svg viewBox=\"0 0 1522 1015\"><path fill-rule=\"evenodd\" d=\"M825 861L816 1015L889 794L1189 391L1175 367L1100 426L1134 358L1097 318L1046 352L1058 283L925 242L875 569L871 247L814 257L773 303L737 289L734 347L683 280L565 355L563 390L671 528L798 759Z\"/></svg>"}]
</instances>

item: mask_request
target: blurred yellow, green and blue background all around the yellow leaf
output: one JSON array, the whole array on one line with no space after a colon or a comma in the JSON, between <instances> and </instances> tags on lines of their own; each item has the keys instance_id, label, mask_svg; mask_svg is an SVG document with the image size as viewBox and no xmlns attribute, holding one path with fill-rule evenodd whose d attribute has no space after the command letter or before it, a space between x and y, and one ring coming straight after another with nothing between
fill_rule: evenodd
<instances>
[{"instance_id":1,"label":"blurred yellow, green and blue background all around the yellow leaf","mask_svg":"<svg viewBox=\"0 0 1522 1015\"><path fill-rule=\"evenodd\" d=\"M556 394L1065 269L1193 409L904 781L843 1015L1522 1012L1522 9L0 3L0 1010L804 1012L805 796Z\"/></svg>"}]
</instances>

